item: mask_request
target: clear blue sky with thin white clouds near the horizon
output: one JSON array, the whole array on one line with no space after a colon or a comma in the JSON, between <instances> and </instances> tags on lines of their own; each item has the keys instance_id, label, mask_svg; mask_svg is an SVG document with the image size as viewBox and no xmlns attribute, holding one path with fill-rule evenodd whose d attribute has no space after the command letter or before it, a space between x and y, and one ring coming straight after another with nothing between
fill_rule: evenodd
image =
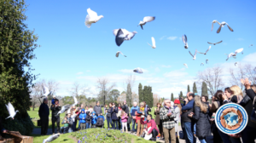
<instances>
[{"instance_id":1,"label":"clear blue sky with thin white clouds near the horizon","mask_svg":"<svg viewBox=\"0 0 256 143\"><path fill-rule=\"evenodd\" d=\"M96 78L108 77L116 83L116 89L124 90L123 82L136 67L143 68L137 76L133 91L138 83L150 85L153 92L161 97L177 96L186 92L187 85L194 83L198 71L207 67L233 65L237 62L256 63L250 57L256 56L255 46L255 1L49 1L27 0L26 15L29 29L38 34L35 50L36 60L32 60L34 73L39 78L55 79L60 83L58 95L68 95L73 83L83 83L96 93ZM90 28L84 26L87 9L96 11L104 18ZM137 26L144 16L155 16L144 30ZM216 33L211 31L212 20L226 21L234 31L226 26ZM118 47L114 41L113 29L125 28L137 31L131 41ZM181 37L188 37L189 49L183 48ZM156 49L147 43L155 38ZM198 54L196 60L189 55L195 49L205 52L207 42L223 43L212 45L207 53ZM255 43L256 44L256 43ZM237 59L226 61L236 49L244 48L244 54ZM117 51L127 57L115 57ZM255 56L254 56L255 55ZM209 64L201 66L201 62ZM255 58L256 59L256 58ZM183 63L189 66L184 68Z\"/></svg>"}]
</instances>

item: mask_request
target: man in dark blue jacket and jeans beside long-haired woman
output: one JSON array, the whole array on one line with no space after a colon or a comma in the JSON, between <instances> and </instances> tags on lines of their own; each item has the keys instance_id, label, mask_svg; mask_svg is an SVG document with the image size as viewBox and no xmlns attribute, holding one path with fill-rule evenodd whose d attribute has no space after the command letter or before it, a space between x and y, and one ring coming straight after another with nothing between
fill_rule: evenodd
<instances>
[{"instance_id":1,"label":"man in dark blue jacket and jeans beside long-haired woman","mask_svg":"<svg viewBox=\"0 0 256 143\"><path fill-rule=\"evenodd\" d=\"M186 142L188 143L194 143L195 141L195 136L193 134L194 132L194 121L191 120L190 117L188 117L188 115L190 114L190 112L194 112L194 97L195 94L189 92L187 94L187 98L189 100L189 102L186 104L186 106L182 107L182 118L183 118L183 124L184 124L184 128L186 131Z\"/></svg>"}]
</instances>

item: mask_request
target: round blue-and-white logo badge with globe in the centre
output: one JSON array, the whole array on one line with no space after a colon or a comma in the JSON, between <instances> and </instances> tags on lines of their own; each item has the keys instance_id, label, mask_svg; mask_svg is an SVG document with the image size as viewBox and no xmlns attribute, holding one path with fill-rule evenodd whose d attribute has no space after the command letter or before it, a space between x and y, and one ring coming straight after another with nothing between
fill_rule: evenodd
<instances>
[{"instance_id":1,"label":"round blue-and-white logo badge with globe in the centre","mask_svg":"<svg viewBox=\"0 0 256 143\"><path fill-rule=\"evenodd\" d=\"M224 134L238 134L248 122L247 112L236 103L220 106L215 115L215 124Z\"/></svg>"}]
</instances>

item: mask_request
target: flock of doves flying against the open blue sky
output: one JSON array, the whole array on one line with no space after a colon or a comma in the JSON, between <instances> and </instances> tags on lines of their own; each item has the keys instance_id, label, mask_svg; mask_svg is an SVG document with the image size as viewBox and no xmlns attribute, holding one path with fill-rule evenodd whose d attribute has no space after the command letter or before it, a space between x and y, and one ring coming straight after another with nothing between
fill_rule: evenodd
<instances>
[{"instance_id":1,"label":"flock of doves flying against the open blue sky","mask_svg":"<svg viewBox=\"0 0 256 143\"><path fill-rule=\"evenodd\" d=\"M101 20L103 18L103 15L99 15L95 12L95 11L92 11L90 8L87 9L87 15L86 15L86 18L85 18L85 26L87 26L88 28L90 28L91 24L92 23L96 23L98 20ZM151 22L155 19L154 16L146 16L144 17L143 21L140 21L138 26L141 26L142 29L143 29L143 26L146 25L146 23L148 22ZM219 33L221 31L221 28L224 27L225 25L228 26L228 28L230 29L230 31L234 31L229 25L228 23L226 22L221 22L219 23L217 20L213 20L212 21L212 30L213 30L213 24L214 23L217 23L219 25L218 27L218 30L217 30L217 33ZM127 31L125 29L114 29L113 30L113 35L115 36L115 43L120 46L124 41L129 41L131 40L135 35L137 34L137 31ZM148 45L150 47L152 47L153 49L156 48L155 46L155 40L154 40L154 37L151 37L152 39L152 45L148 43ZM218 43L222 43L223 41L220 41ZM187 39L187 36L186 35L183 35L183 43L185 44L184 48L185 49L188 49L189 48L189 44L188 44L188 39ZM207 42L209 43L209 42ZM216 45L218 43L209 43L209 44L213 44L213 45ZM251 44L250 46L253 46L253 44ZM249 47L250 47L249 46ZM191 56L193 57L193 60L195 60L196 58L196 54L199 53L199 54L207 54L207 52L211 49L211 46L209 46L209 48L207 49L207 51L205 53L201 53L201 52L198 52L196 49L195 49L195 54L191 54L191 52L189 51L189 54L191 54ZM242 53L243 49L237 49L235 51L235 54L234 53L230 53L230 54L227 54L228 55L228 59L230 59L230 57L236 59L236 54L238 53ZM116 57L119 57L119 54L123 54L122 52L118 51L116 53ZM124 54L123 54L124 55ZM124 55L125 56L125 55ZM126 57L126 56L125 56ZM208 60L206 60L206 63L208 62ZM235 66L236 66L237 62L235 63ZM183 64L184 66L186 66L188 68L188 65L187 64ZM204 63L201 63L201 66L204 66ZM137 67L136 69L133 70L133 72L137 72L137 73L143 73L143 70L139 67Z\"/></svg>"}]
</instances>

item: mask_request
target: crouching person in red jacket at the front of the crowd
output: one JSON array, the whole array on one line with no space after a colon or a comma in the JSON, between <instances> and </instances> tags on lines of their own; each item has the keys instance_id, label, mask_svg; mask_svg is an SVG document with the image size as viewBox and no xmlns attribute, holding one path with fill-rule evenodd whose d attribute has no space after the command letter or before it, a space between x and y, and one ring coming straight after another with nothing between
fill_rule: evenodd
<instances>
[{"instance_id":1,"label":"crouching person in red jacket at the front of the crowd","mask_svg":"<svg viewBox=\"0 0 256 143\"><path fill-rule=\"evenodd\" d=\"M144 118L141 118L141 123L142 124L147 124L148 129L144 129L143 131L145 132L145 140L152 140L156 141L156 136L159 133L159 130L156 127L156 123L154 122L154 119L152 119L152 115L148 114L147 120L144 121ZM151 138L148 139L148 135L152 136Z\"/></svg>"}]
</instances>

